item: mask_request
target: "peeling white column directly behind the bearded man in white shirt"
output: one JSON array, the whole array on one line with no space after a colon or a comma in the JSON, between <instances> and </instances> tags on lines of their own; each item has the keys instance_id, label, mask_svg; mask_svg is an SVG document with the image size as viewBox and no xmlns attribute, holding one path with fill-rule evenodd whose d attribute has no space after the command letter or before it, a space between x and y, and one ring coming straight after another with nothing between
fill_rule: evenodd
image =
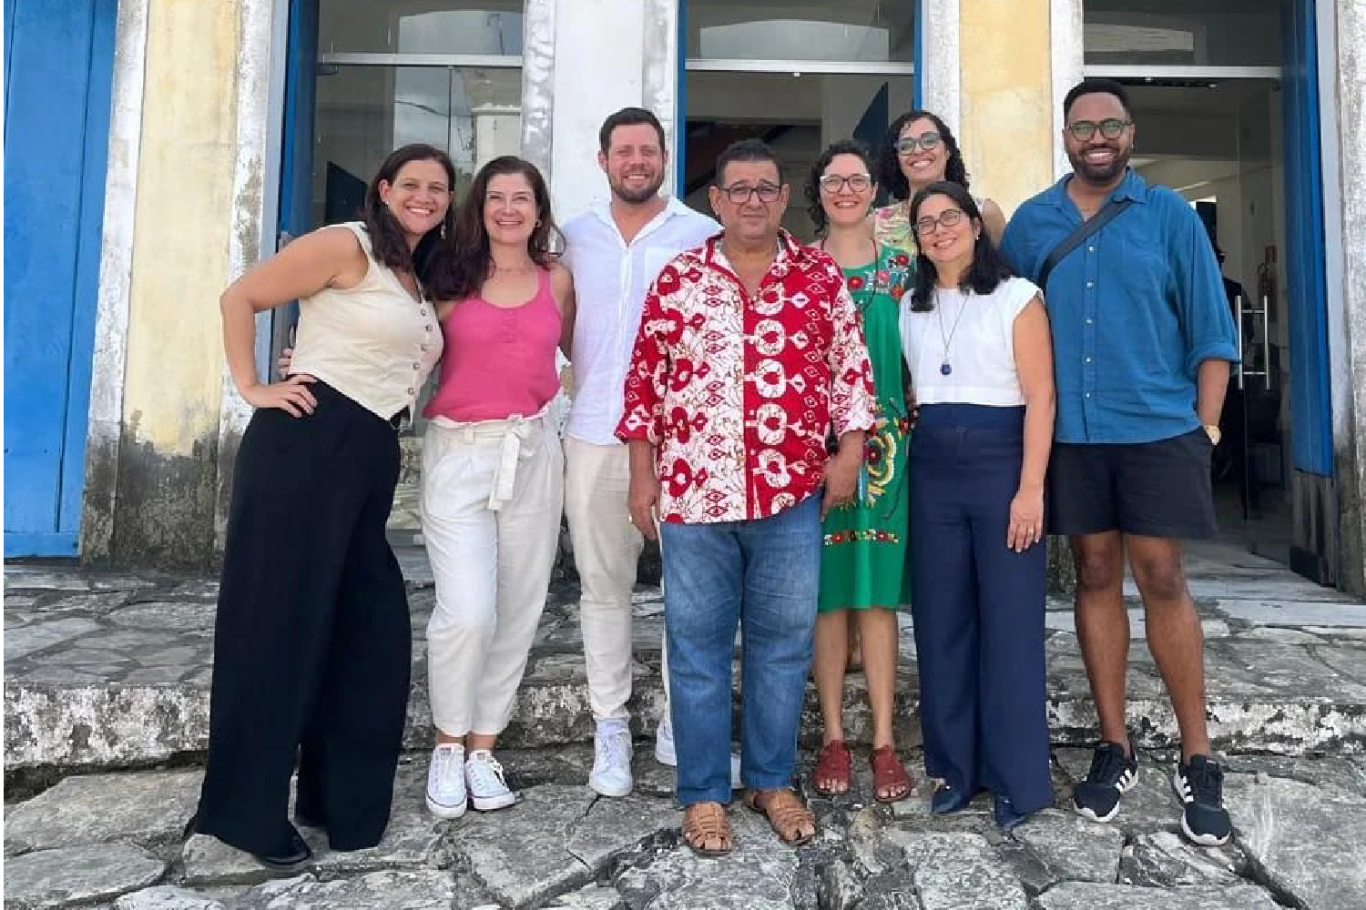
<instances>
[{"instance_id":1,"label":"peeling white column directly behind the bearded man in white shirt","mask_svg":"<svg viewBox=\"0 0 1366 910\"><path fill-rule=\"evenodd\" d=\"M548 172L561 221L607 199L596 158L607 115L649 108L673 151L676 23L676 0L527 0L522 150Z\"/></svg>"}]
</instances>

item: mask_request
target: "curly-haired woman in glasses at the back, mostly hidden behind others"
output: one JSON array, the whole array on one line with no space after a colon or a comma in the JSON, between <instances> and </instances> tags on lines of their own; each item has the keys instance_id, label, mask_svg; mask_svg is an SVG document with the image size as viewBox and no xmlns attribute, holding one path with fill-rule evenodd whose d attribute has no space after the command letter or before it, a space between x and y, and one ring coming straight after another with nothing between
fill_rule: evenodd
<instances>
[{"instance_id":1,"label":"curly-haired woman in glasses at the back, mostly hidden behind others","mask_svg":"<svg viewBox=\"0 0 1366 910\"><path fill-rule=\"evenodd\" d=\"M968 188L967 166L958 139L937 115L929 111L903 113L887 130L887 141L878 154L882 187L891 194L892 205L882 206L873 216L877 241L915 255L915 235L908 218L911 196L941 180ZM990 199L974 196L982 213L982 225L993 246L1001 241L1005 216Z\"/></svg>"}]
</instances>

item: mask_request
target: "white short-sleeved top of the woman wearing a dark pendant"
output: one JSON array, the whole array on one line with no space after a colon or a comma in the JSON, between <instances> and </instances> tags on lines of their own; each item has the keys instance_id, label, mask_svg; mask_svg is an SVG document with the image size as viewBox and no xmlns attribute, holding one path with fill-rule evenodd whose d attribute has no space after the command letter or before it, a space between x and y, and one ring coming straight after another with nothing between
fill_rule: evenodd
<instances>
[{"instance_id":1,"label":"white short-sleeved top of the woman wearing a dark pendant","mask_svg":"<svg viewBox=\"0 0 1366 910\"><path fill-rule=\"evenodd\" d=\"M1015 368L1015 317L1038 288L1007 278L989 295L936 288L934 308L911 310L902 297L902 353L919 404L1024 404ZM944 374L944 364L949 372Z\"/></svg>"}]
</instances>

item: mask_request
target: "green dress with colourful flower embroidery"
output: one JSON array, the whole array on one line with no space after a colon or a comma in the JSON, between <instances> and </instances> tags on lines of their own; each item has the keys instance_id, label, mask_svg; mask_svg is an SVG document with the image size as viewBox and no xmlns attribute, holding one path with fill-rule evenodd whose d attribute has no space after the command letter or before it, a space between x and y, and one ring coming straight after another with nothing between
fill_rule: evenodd
<instances>
[{"instance_id":1,"label":"green dress with colourful flower embroidery","mask_svg":"<svg viewBox=\"0 0 1366 910\"><path fill-rule=\"evenodd\" d=\"M854 502L825 516L820 610L862 610L910 603L907 527L910 415L902 379L902 295L910 293L911 258L878 246L876 262L844 269L858 304L873 364L878 426L869 431Z\"/></svg>"}]
</instances>

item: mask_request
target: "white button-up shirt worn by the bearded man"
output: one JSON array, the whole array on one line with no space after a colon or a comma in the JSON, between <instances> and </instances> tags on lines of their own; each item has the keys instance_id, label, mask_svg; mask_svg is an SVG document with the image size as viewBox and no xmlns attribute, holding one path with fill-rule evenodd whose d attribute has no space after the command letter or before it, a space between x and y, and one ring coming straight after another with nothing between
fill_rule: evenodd
<instances>
[{"instance_id":1,"label":"white button-up shirt worn by the bearded man","mask_svg":"<svg viewBox=\"0 0 1366 910\"><path fill-rule=\"evenodd\" d=\"M721 229L712 218L668 198L627 246L608 203L571 218L564 262L574 273L574 405L568 435L593 445L622 445L616 424L645 295L664 265Z\"/></svg>"}]
</instances>

